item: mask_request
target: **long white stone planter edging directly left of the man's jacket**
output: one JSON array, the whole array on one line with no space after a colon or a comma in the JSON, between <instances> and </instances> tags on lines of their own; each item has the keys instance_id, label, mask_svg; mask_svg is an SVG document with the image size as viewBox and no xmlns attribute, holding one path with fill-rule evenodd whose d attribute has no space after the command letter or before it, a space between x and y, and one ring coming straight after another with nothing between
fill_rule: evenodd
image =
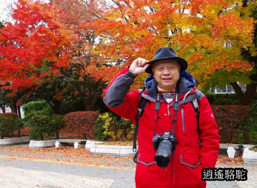
<instances>
[{"instance_id":1,"label":"long white stone planter edging directly left of the man's jacket","mask_svg":"<svg viewBox=\"0 0 257 188\"><path fill-rule=\"evenodd\" d=\"M93 155L112 155L120 157L134 156L133 146L113 146L92 144L90 153Z\"/></svg>"}]
</instances>

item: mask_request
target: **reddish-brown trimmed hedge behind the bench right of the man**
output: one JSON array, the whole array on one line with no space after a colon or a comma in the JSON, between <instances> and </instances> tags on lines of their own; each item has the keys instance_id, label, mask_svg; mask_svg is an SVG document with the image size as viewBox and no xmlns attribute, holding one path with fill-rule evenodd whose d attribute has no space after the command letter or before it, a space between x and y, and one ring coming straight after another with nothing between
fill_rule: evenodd
<instances>
[{"instance_id":1,"label":"reddish-brown trimmed hedge behind the bench right of the man","mask_svg":"<svg viewBox=\"0 0 257 188\"><path fill-rule=\"evenodd\" d=\"M212 106L212 110L218 124L221 143L232 143L234 135L238 134L238 125L249 115L250 107L216 105Z\"/></svg>"}]
</instances>

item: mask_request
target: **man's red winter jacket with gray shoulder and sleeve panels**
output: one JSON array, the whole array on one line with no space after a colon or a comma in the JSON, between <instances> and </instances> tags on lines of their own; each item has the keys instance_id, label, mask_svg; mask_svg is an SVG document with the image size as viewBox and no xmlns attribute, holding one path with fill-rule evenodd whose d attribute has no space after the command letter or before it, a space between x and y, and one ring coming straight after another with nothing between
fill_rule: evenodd
<instances>
[{"instance_id":1,"label":"man's red winter jacket with gray shoulder and sleeve panels","mask_svg":"<svg viewBox=\"0 0 257 188\"><path fill-rule=\"evenodd\" d=\"M140 90L128 92L135 77L128 67L125 68L109 84L103 95L105 104L113 112L133 121L134 124L136 124ZM152 143L157 93L157 82L154 78L148 81L148 88L142 94L149 102L139 118L135 174L137 188L203 188L206 187L206 182L201 180L202 168L215 167L220 137L209 102L200 91L187 87L188 81L184 78L180 78L177 84L179 88L179 110L175 131L177 144L175 150L172 150L171 161L164 168L158 167L154 161L157 152L153 149ZM191 103L195 97L199 104L200 135L197 131L196 113ZM161 98L157 114L160 118L157 118L155 134L163 134L165 131L173 133L175 119L173 106L174 101L168 104L164 98Z\"/></svg>"}]
</instances>

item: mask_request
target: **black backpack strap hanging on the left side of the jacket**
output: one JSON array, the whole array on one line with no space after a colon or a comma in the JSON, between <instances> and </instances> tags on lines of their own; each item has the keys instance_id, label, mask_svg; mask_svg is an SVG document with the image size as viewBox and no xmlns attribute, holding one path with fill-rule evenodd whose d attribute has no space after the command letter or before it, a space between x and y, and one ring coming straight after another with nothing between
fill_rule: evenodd
<instances>
[{"instance_id":1,"label":"black backpack strap hanging on the left side of the jacket","mask_svg":"<svg viewBox=\"0 0 257 188\"><path fill-rule=\"evenodd\" d=\"M133 138L133 151L134 152L136 152L136 150L137 150L136 141L137 141L137 131L138 131L139 117L142 115L143 110L146 106L146 103L148 102L148 100L142 96L143 91L144 91L144 89L142 89L140 91L140 98L139 98L139 101L138 101L138 110L137 110L137 116L136 116L137 124L136 124L135 130L134 130L134 138Z\"/></svg>"}]
</instances>

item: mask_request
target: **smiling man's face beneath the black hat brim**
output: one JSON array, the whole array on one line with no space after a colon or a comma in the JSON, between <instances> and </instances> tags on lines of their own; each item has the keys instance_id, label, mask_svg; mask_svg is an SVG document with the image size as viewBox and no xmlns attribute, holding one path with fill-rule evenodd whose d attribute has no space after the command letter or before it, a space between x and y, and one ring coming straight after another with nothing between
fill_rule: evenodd
<instances>
[{"instance_id":1,"label":"smiling man's face beneath the black hat brim","mask_svg":"<svg viewBox=\"0 0 257 188\"><path fill-rule=\"evenodd\" d=\"M179 79L180 64L175 60L157 61L152 66L154 78L163 90L174 90Z\"/></svg>"}]
</instances>

